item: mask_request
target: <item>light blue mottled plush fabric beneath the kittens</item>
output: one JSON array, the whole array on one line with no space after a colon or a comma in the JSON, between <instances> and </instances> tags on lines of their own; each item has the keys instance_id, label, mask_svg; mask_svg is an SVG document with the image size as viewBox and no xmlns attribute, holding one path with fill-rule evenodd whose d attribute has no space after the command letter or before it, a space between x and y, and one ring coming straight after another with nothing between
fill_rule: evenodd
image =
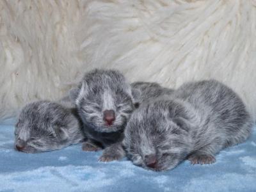
<instances>
[{"instance_id":1,"label":"light blue mottled plush fabric beneath the kittens","mask_svg":"<svg viewBox=\"0 0 256 192\"><path fill-rule=\"evenodd\" d=\"M101 152L81 145L41 154L13 149L12 121L0 125L0 191L256 191L256 130L241 145L227 148L216 163L152 172L124 159L100 163Z\"/></svg>"}]
</instances>

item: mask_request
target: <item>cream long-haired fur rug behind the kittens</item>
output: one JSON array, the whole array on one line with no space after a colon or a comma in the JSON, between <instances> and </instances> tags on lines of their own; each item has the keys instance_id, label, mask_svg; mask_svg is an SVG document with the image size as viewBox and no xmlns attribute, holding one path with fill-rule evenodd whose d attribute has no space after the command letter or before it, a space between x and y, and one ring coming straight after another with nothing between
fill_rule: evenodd
<instances>
[{"instance_id":1,"label":"cream long-haired fur rug behind the kittens","mask_svg":"<svg viewBox=\"0 0 256 192\"><path fill-rule=\"evenodd\" d=\"M173 88L215 78L256 116L256 1L0 1L0 118L95 67Z\"/></svg>"}]
</instances>

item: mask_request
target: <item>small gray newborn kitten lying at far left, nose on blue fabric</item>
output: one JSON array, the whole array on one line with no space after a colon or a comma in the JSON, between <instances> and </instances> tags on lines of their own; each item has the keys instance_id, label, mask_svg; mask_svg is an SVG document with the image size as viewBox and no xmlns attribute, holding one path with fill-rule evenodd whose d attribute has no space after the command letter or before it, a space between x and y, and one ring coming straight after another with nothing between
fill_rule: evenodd
<instances>
[{"instance_id":1,"label":"small gray newborn kitten lying at far left, nose on blue fabric","mask_svg":"<svg viewBox=\"0 0 256 192\"><path fill-rule=\"evenodd\" d=\"M67 100L27 104L15 126L15 148L35 153L56 150L84 140L81 121Z\"/></svg>"}]
</instances>

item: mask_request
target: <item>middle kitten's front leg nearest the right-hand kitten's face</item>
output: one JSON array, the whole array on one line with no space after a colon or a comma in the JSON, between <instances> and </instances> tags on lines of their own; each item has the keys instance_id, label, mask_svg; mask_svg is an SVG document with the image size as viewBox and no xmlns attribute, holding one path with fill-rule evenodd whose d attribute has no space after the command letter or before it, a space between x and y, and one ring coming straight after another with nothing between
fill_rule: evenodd
<instances>
[{"instance_id":1,"label":"middle kitten's front leg nearest the right-hand kitten's face","mask_svg":"<svg viewBox=\"0 0 256 192\"><path fill-rule=\"evenodd\" d=\"M120 160L124 158L125 156L125 150L122 147L122 143L115 143L113 145L110 145L109 147L106 147L103 150L102 156L100 156L99 161L102 162L109 162L109 161L115 161Z\"/></svg>"}]
</instances>

